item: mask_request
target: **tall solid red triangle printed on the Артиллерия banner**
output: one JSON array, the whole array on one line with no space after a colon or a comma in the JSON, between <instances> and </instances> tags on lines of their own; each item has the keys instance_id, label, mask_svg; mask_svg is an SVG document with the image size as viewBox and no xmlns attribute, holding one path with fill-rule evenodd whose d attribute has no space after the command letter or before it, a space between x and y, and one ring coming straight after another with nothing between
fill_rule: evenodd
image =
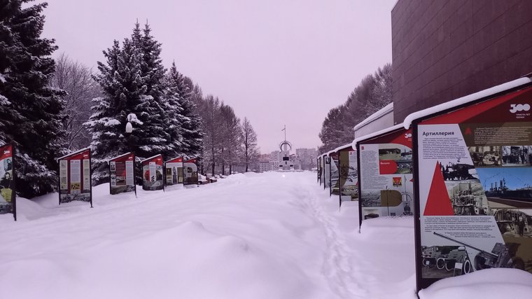
<instances>
[{"instance_id":1,"label":"tall solid red triangle printed on the \u0410\u0440\u0442\u0438\u043b\u043b\u0435\u0440\u0438\u044f banner","mask_svg":"<svg viewBox=\"0 0 532 299\"><path fill-rule=\"evenodd\" d=\"M436 162L423 216L454 216L451 199L447 193L447 187L445 187L442 170L440 169L440 162Z\"/></svg>"}]
</instances>

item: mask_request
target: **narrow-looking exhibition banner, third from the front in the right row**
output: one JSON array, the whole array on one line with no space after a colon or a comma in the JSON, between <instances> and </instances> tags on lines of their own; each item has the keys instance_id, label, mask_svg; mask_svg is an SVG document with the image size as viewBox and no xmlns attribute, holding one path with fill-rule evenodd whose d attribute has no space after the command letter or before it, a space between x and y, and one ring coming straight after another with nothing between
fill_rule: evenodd
<instances>
[{"instance_id":1,"label":"narrow-looking exhibition banner, third from the front in the right row","mask_svg":"<svg viewBox=\"0 0 532 299\"><path fill-rule=\"evenodd\" d=\"M358 200L358 167L356 151L348 146L338 151L340 204L344 201Z\"/></svg>"}]
</instances>

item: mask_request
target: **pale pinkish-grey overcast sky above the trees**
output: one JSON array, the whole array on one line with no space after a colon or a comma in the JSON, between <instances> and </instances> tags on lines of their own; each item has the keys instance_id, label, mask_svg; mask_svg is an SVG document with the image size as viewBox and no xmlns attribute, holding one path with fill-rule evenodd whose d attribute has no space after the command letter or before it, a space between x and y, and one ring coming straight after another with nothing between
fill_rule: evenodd
<instances>
[{"instance_id":1,"label":"pale pinkish-grey overcast sky above the trees","mask_svg":"<svg viewBox=\"0 0 532 299\"><path fill-rule=\"evenodd\" d=\"M391 62L395 0L48 0L44 36L89 67L148 20L162 59L248 117L262 153L321 144L329 109Z\"/></svg>"}]
</instances>

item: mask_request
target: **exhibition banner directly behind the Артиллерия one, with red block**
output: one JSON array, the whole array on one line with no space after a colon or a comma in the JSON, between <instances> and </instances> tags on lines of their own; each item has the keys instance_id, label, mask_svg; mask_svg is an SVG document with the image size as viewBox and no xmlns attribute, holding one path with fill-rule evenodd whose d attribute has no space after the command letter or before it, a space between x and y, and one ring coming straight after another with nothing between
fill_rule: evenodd
<instances>
[{"instance_id":1,"label":"exhibition banner directly behind the \u0410\u0440\u0442\u0438\u043b\u043b\u0435\u0440\u0438\u044f one, with red block","mask_svg":"<svg viewBox=\"0 0 532 299\"><path fill-rule=\"evenodd\" d=\"M360 225L367 218L412 216L412 130L405 130L401 126L360 140L357 146L360 160Z\"/></svg>"}]
</instances>

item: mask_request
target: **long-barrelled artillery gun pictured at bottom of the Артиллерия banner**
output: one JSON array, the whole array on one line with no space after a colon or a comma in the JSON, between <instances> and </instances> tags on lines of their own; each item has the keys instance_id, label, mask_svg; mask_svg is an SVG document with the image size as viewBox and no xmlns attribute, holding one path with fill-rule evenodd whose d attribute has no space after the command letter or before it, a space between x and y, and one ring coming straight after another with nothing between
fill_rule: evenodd
<instances>
[{"instance_id":1,"label":"long-barrelled artillery gun pictured at bottom of the \u0410\u0440\u0442\u0438\u043b\u043b\u0435\u0440\u0438\u044f banner","mask_svg":"<svg viewBox=\"0 0 532 299\"><path fill-rule=\"evenodd\" d=\"M479 249L475 246L472 246L470 244L467 244L465 242L457 241L456 239L453 239L451 237L448 237L446 235L442 235L438 232L433 232L434 235L437 235L439 237L442 237L444 239L449 239L453 242L456 242L458 244L461 244L463 246L463 251L465 251L465 247L469 247L470 249L474 249L475 251L479 251L477 255L475 256L475 259L473 260L473 265L475 267L475 270L482 270L482 269L488 269L491 267L504 267L504 268L516 268L520 270L524 270L524 261L521 260L521 258L515 257L515 252L510 251L507 246L503 243L496 243L495 246L493 246L493 249L491 249L491 252L484 251L482 249ZM449 253L449 256L447 256L447 260L445 260L445 268L449 270L449 267L455 267L456 263L462 263L462 272L463 274L467 274L471 271L471 263L470 259L467 256L467 251L465 251L465 257L463 257L463 261L459 261L457 258L462 258L463 254L460 253L454 253L451 257L451 253ZM465 260L467 258L467 260ZM454 263L453 263L454 262ZM449 267L447 266L447 263L449 263ZM466 263L468 263L468 269L465 267Z\"/></svg>"}]
</instances>

